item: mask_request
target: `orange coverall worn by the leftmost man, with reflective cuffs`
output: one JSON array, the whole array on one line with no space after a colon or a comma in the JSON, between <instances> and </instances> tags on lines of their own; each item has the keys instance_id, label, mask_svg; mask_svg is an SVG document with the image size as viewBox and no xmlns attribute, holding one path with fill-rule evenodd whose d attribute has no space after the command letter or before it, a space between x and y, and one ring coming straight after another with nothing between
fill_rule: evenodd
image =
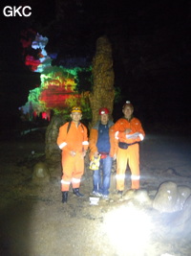
<instances>
[{"instance_id":1,"label":"orange coverall worn by the leftmost man, with reflective cuffs","mask_svg":"<svg viewBox=\"0 0 191 256\"><path fill-rule=\"evenodd\" d=\"M61 191L69 191L70 184L73 188L79 188L81 176L84 174L83 151L88 150L87 128L79 123L78 127L74 122L67 132L69 122L59 128L57 145L62 150L62 180ZM75 151L75 155L71 155Z\"/></svg>"}]
</instances>

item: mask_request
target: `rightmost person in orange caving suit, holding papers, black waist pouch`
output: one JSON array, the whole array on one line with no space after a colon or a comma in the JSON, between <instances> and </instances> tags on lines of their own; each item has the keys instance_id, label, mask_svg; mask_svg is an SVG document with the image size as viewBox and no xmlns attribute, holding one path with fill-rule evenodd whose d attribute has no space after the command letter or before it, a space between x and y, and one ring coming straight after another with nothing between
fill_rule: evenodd
<instances>
[{"instance_id":1,"label":"rightmost person in orange caving suit, holding papers, black waist pouch","mask_svg":"<svg viewBox=\"0 0 191 256\"><path fill-rule=\"evenodd\" d=\"M138 118L133 116L134 106L127 101L122 107L123 117L114 125L117 142L117 193L122 197L127 164L131 171L131 189L139 189L139 142L145 132Z\"/></svg>"}]
</instances>

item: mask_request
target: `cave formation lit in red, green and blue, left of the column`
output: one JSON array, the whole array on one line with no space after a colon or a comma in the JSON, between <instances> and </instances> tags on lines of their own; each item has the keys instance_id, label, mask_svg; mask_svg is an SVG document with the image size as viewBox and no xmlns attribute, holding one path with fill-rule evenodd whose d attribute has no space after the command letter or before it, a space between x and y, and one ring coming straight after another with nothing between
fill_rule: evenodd
<instances>
[{"instance_id":1,"label":"cave formation lit in red, green and blue, left of the column","mask_svg":"<svg viewBox=\"0 0 191 256\"><path fill-rule=\"evenodd\" d=\"M31 35L34 32L30 31ZM69 108L74 105L81 105L83 112L90 116L90 105L88 92L79 94L76 86L78 72L89 68L66 68L64 66L52 66L53 58L56 54L47 54L45 47L48 38L36 34L34 40L27 40L28 35L22 38L23 48L32 49L35 56L26 54L25 64L29 66L32 72L40 73L41 84L29 92L28 102L26 105L19 107L23 115L30 121L36 116L50 120L51 110L54 113L68 113ZM27 52L27 51L25 51Z\"/></svg>"}]
</instances>

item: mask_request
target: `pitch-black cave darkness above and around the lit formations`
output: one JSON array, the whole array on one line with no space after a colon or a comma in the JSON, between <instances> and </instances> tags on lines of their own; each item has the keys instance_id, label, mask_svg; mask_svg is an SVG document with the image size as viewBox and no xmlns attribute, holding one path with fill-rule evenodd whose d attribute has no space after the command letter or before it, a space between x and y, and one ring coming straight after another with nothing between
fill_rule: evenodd
<instances>
[{"instance_id":1,"label":"pitch-black cave darkness above and around the lit formations","mask_svg":"<svg viewBox=\"0 0 191 256\"><path fill-rule=\"evenodd\" d=\"M5 17L1 12L0 108L1 133L19 127L18 107L39 74L25 66L22 31L47 36L48 54L57 53L53 65L73 58L91 63L96 39L107 35L113 47L115 86L121 106L130 100L135 116L146 130L189 133L191 82L191 1L21 0L5 6L31 6L30 17ZM103 81L104 82L104 81Z\"/></svg>"}]
</instances>

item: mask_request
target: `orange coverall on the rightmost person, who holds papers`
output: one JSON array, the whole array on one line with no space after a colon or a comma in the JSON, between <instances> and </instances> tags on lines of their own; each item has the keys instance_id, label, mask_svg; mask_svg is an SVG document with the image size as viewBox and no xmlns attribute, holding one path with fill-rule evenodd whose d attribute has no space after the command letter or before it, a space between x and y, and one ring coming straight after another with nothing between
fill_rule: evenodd
<instances>
[{"instance_id":1,"label":"orange coverall on the rightmost person, who holds papers","mask_svg":"<svg viewBox=\"0 0 191 256\"><path fill-rule=\"evenodd\" d=\"M131 132L126 134L124 131L126 128L130 128ZM117 120L114 126L116 132L117 144L118 142L125 142L127 144L135 143L141 141L145 136L145 132L141 126L138 118L133 117L130 121L125 118L120 118ZM139 132L141 135L136 138L127 138L126 135L134 134ZM123 150L118 147L117 149L117 190L124 190L124 181L125 181L125 171L127 164L131 170L131 181L132 189L139 188L139 145L134 144L130 145L128 149Z\"/></svg>"}]
</instances>

